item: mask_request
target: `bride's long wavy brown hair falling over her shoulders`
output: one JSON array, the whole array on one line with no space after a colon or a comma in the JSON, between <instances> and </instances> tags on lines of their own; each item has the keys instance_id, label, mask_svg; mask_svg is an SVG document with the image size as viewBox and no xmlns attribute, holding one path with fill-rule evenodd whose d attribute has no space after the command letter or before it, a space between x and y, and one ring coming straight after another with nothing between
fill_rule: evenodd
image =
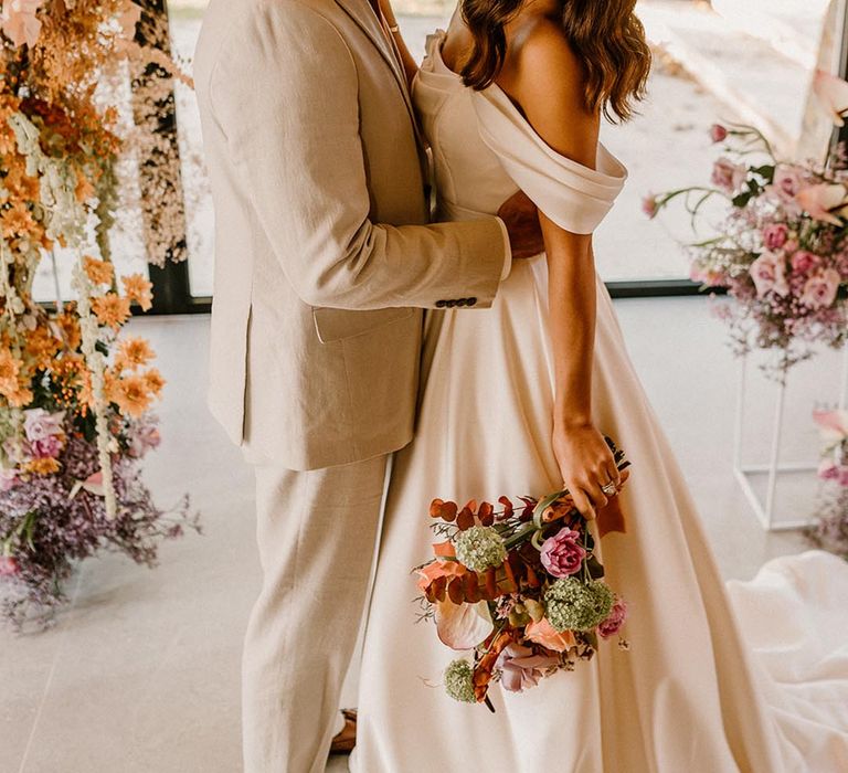
<instances>
[{"instance_id":1,"label":"bride's long wavy brown hair falling over her shoulders","mask_svg":"<svg viewBox=\"0 0 848 773\"><path fill-rule=\"evenodd\" d=\"M490 86L504 66L504 28L526 0L462 0L463 19L474 47L460 74L466 86ZM636 0L561 0L555 17L583 63L586 108L603 110L611 120L633 117L633 103L643 99L650 72L645 28L636 18Z\"/></svg>"}]
</instances>

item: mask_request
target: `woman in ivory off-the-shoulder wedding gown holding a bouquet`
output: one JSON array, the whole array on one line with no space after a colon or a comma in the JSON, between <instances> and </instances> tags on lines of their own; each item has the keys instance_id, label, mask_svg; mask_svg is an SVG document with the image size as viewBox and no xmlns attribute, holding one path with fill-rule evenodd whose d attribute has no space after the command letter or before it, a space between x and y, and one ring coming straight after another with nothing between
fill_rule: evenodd
<instances>
[{"instance_id":1,"label":"woman in ivory off-the-shoulder wedding gown holding a bouquet","mask_svg":"<svg viewBox=\"0 0 848 773\"><path fill-rule=\"evenodd\" d=\"M626 120L649 70L634 4L462 0L415 74L441 219L492 213L520 188L547 254L516 262L490 309L428 319L417 434L395 462L365 635L359 773L848 770L848 675L764 689L595 273L592 231L626 178L598 142L601 116ZM618 483L603 435L634 465L626 530L601 546L629 604L629 650L602 644L527 693L492 689L495 714L452 701L439 687L451 655L412 604L427 504L564 481L592 517Z\"/></svg>"}]
</instances>

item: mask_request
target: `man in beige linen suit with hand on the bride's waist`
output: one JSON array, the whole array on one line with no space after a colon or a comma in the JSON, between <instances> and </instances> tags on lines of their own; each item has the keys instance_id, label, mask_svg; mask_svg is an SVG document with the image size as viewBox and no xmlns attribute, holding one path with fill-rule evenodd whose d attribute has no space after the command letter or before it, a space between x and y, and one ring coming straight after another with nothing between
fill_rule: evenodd
<instances>
[{"instance_id":1,"label":"man in beige linen suit with hand on the bride's waist","mask_svg":"<svg viewBox=\"0 0 848 773\"><path fill-rule=\"evenodd\" d=\"M386 463L412 438L422 309L489 306L510 257L542 248L522 197L502 219L430 223L393 30L369 0L212 0L197 50L210 404L255 465L264 573L247 773L324 771Z\"/></svg>"}]
</instances>

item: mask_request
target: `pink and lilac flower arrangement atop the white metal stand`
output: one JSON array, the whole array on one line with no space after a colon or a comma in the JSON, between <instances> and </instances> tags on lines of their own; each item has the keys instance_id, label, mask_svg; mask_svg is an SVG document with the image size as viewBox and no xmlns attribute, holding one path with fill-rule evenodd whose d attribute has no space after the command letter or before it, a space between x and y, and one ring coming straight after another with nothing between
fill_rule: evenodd
<instances>
[{"instance_id":1,"label":"pink and lilac flower arrangement atop the white metal stand","mask_svg":"<svg viewBox=\"0 0 848 773\"><path fill-rule=\"evenodd\" d=\"M819 100L842 123L848 83L819 72ZM690 244L691 276L735 299L719 307L734 348L780 352L776 373L808 358L812 345L834 348L848 340L848 165L845 148L824 163L775 157L755 128L714 125L712 140L727 155L712 168L711 184L693 186L644 200L655 218L683 201L695 226L710 200L720 200L719 234ZM753 159L753 160L752 160Z\"/></svg>"}]
</instances>

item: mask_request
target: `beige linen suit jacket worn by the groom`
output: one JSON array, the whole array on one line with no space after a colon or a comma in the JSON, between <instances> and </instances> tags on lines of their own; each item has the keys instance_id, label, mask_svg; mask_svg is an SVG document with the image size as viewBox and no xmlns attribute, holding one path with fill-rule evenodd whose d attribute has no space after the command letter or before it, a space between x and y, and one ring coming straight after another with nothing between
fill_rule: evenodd
<instances>
[{"instance_id":1,"label":"beige linen suit jacket worn by the groom","mask_svg":"<svg viewBox=\"0 0 848 773\"><path fill-rule=\"evenodd\" d=\"M213 414L292 469L404 446L422 309L490 305L502 223L428 224L412 103L368 0L212 0L194 76Z\"/></svg>"}]
</instances>

